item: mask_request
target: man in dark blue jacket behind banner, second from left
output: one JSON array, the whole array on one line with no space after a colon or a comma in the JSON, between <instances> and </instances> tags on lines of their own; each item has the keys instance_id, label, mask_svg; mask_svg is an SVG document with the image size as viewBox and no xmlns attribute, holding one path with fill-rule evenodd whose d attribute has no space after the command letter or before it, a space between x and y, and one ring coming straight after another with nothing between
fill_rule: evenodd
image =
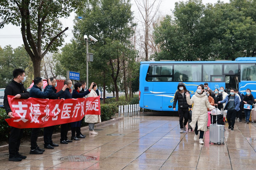
<instances>
[{"instance_id":1,"label":"man in dark blue jacket behind banner, second from left","mask_svg":"<svg viewBox=\"0 0 256 170\"><path fill-rule=\"evenodd\" d=\"M41 77L36 77L34 79L34 85L29 91L30 97L46 99L49 96L49 94L53 92L51 88L51 82L49 79L48 81L49 81L50 88L48 87L47 89L42 91L42 88L44 87L44 82ZM33 107L33 109L36 109L36 108L38 107L37 106ZM31 139L30 139L31 150L29 154L42 154L45 151L44 149L39 148L36 143L40 130L41 128L32 128L31 130Z\"/></svg>"}]
</instances>

